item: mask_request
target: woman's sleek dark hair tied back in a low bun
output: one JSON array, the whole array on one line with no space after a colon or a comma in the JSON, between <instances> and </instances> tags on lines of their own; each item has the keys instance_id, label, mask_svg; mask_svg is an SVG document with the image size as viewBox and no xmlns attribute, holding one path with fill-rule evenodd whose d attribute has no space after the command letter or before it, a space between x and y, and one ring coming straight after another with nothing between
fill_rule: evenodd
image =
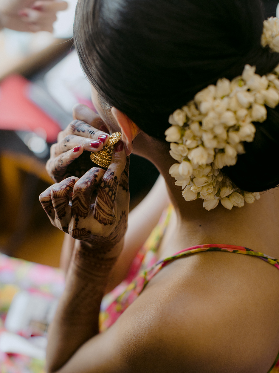
<instances>
[{"instance_id":1,"label":"woman's sleek dark hair tied back in a low bun","mask_svg":"<svg viewBox=\"0 0 279 373\"><path fill-rule=\"evenodd\" d=\"M81 66L100 97L147 134L164 141L168 117L218 78L260 75L278 64L262 48L259 0L82 0L74 40ZM240 189L278 185L278 113L269 109L246 154L223 171ZM276 117L277 115L277 117Z\"/></svg>"}]
</instances>

